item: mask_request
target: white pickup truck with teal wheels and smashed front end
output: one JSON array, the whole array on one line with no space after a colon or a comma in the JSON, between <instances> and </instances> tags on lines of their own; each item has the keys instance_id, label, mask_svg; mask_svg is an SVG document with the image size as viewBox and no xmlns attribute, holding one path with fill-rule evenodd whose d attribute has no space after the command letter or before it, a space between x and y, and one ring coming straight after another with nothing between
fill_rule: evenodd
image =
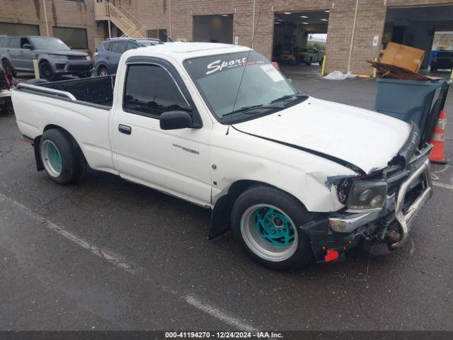
<instances>
[{"instance_id":1,"label":"white pickup truck with teal wheels and smashed front end","mask_svg":"<svg viewBox=\"0 0 453 340\"><path fill-rule=\"evenodd\" d=\"M401 247L431 195L418 128L306 96L246 47L130 50L116 77L23 84L12 101L55 182L90 166L211 208L210 238L232 229L273 268Z\"/></svg>"}]
</instances>

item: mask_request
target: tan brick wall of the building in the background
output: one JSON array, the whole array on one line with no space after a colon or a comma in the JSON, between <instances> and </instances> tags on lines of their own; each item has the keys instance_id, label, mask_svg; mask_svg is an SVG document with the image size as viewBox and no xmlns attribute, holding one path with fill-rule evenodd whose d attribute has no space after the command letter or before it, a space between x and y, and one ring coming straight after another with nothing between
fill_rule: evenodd
<instances>
[{"instance_id":1,"label":"tan brick wall of the building in the background","mask_svg":"<svg viewBox=\"0 0 453 340\"><path fill-rule=\"evenodd\" d=\"M43 0L0 0L0 21L40 26L46 34ZM239 44L250 46L253 32L253 0L112 0L133 14L147 29L164 28L172 38L193 40L193 16L234 14L233 36ZM385 3L385 4L384 4ZM94 21L94 0L78 3L46 0L47 21L52 26L86 28L88 48L95 49L95 38L102 38L103 23ZM270 58L273 48L273 17L276 11L330 10L326 44L326 71L348 69L348 57L356 0L256 0L254 48ZM453 4L452 0L359 0L350 69L357 74L372 74L365 60L379 54L387 6ZM171 13L170 13L171 12ZM171 21L171 25L170 25ZM378 46L372 46L374 36Z\"/></svg>"}]
</instances>

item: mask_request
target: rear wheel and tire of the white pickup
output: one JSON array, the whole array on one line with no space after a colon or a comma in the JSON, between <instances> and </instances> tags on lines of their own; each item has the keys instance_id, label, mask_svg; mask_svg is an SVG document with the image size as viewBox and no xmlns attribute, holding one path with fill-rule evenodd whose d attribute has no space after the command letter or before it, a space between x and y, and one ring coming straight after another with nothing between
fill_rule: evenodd
<instances>
[{"instance_id":1,"label":"rear wheel and tire of the white pickup","mask_svg":"<svg viewBox=\"0 0 453 340\"><path fill-rule=\"evenodd\" d=\"M81 181L86 159L71 136L62 130L44 132L40 140L40 157L47 176L59 184Z\"/></svg>"}]
</instances>

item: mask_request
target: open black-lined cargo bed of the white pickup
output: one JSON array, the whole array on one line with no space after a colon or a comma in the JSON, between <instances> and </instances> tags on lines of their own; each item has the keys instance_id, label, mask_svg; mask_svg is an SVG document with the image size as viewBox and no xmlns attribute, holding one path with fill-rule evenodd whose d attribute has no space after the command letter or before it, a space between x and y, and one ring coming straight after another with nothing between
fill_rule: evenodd
<instances>
[{"instance_id":1,"label":"open black-lined cargo bed of the white pickup","mask_svg":"<svg viewBox=\"0 0 453 340\"><path fill-rule=\"evenodd\" d=\"M115 76L70 79L40 84L19 84L17 89L31 94L55 96L84 105L110 108L113 103ZM46 90L48 89L48 90Z\"/></svg>"}]
</instances>

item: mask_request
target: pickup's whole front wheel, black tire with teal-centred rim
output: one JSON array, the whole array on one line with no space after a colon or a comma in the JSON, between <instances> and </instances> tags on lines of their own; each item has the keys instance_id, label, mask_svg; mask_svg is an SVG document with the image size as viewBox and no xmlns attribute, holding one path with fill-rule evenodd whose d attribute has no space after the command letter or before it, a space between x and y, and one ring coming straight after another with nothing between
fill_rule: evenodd
<instances>
[{"instance_id":1,"label":"pickup's whole front wheel, black tire with teal-centred rim","mask_svg":"<svg viewBox=\"0 0 453 340\"><path fill-rule=\"evenodd\" d=\"M298 229L312 219L302 203L284 191L253 186L241 193L234 203L231 229L258 263L289 270L314 261L310 239ZM282 236L275 237L275 234Z\"/></svg>"}]
</instances>

